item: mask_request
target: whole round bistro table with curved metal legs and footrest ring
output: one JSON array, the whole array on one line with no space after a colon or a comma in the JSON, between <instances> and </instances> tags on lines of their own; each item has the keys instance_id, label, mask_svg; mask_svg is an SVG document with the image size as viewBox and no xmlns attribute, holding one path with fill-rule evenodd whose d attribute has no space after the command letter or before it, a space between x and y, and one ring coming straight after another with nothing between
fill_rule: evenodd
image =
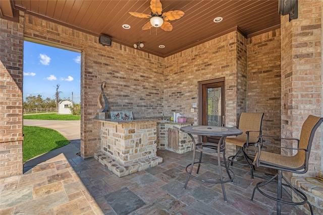
<instances>
[{"instance_id":1,"label":"whole round bistro table with curved metal legs and footrest ring","mask_svg":"<svg viewBox=\"0 0 323 215\"><path fill-rule=\"evenodd\" d=\"M194 143L193 147L193 159L192 163L186 166L186 173L187 173L187 179L186 183L184 185L184 189L187 186L188 181L190 180L190 177L193 177L197 180L203 181L203 182L208 182L208 183L216 183L219 184L221 183L222 186L222 191L223 191L223 197L224 200L227 202L227 195L226 191L224 188L224 183L227 183L229 181L233 181L234 179L234 173L232 170L229 169L229 166L227 165L226 162L226 137L227 136L234 136L234 135L239 135L242 134L242 130L238 128L233 128L233 127L222 127L222 126L210 126L210 125L193 125L193 126L185 126L181 128L181 131L187 133L191 138ZM219 144L213 143L213 142L200 142L196 144L194 137L192 134L196 134L199 136L220 136ZM198 162L195 162L195 153L196 151L200 152L200 158ZM212 163L212 162L202 162L202 153L211 153L211 154L217 154L218 155L218 163ZM224 160L224 167L227 171L227 174L229 176L228 180L224 180L222 177L222 168L221 168L221 153L223 154L223 160ZM196 174L198 174L199 168L201 163L207 163L207 164L214 164L219 166L219 175L220 175L220 180L215 181L215 180L204 180L201 179L197 176L192 175L192 170L194 164L198 164ZM191 167L190 170L188 171L188 167ZM232 173L233 176L231 176L230 172Z\"/></svg>"}]
</instances>

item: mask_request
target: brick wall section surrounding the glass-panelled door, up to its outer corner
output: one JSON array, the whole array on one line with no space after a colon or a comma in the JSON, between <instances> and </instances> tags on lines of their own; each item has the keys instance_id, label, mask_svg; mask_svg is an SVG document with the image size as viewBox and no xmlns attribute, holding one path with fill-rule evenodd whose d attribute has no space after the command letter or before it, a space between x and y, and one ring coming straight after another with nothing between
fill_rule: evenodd
<instances>
[{"instance_id":1,"label":"brick wall section surrounding the glass-panelled door, up to its outer corner","mask_svg":"<svg viewBox=\"0 0 323 215\"><path fill-rule=\"evenodd\" d=\"M197 124L198 112L191 113L190 109L193 102L198 102L198 82L225 77L225 121L228 126L236 125L237 104L246 99L237 97L237 90L245 89L243 82L237 82L238 77L243 76L237 74L239 35L240 33L234 31L165 58L166 115L180 112L182 115L194 117ZM235 152L232 146L228 146L227 149L228 154Z\"/></svg>"}]
</instances>

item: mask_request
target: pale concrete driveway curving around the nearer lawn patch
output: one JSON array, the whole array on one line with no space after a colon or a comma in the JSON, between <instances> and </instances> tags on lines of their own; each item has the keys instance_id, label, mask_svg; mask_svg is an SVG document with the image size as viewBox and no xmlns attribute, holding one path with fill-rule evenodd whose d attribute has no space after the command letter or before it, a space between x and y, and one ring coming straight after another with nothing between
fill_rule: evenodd
<instances>
[{"instance_id":1,"label":"pale concrete driveway curving around the nearer lawn patch","mask_svg":"<svg viewBox=\"0 0 323 215\"><path fill-rule=\"evenodd\" d=\"M24 173L34 166L46 163L60 161L63 156L66 159L73 159L79 157L81 144L81 121L80 120L35 120L24 119L23 125L45 127L57 130L68 140L70 144L56 150L52 150L45 154L39 155L25 162Z\"/></svg>"}]
</instances>

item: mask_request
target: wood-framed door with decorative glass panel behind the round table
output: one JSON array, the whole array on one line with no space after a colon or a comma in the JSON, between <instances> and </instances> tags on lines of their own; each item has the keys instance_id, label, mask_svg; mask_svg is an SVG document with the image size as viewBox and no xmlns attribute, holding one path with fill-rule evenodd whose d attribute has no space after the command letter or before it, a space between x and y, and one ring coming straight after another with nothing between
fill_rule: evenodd
<instances>
[{"instance_id":1,"label":"wood-framed door with decorative glass panel behind the round table","mask_svg":"<svg viewBox=\"0 0 323 215\"><path fill-rule=\"evenodd\" d=\"M199 124L224 126L224 78L199 82ZM203 141L218 142L220 138L203 137Z\"/></svg>"}]
</instances>

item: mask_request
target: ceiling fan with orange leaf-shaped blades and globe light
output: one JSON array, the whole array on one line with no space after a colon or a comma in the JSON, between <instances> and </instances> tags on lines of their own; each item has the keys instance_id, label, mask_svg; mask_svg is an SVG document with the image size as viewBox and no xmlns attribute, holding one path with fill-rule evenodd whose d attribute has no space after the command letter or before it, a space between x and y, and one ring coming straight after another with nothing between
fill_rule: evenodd
<instances>
[{"instance_id":1,"label":"ceiling fan with orange leaf-shaped blades and globe light","mask_svg":"<svg viewBox=\"0 0 323 215\"><path fill-rule=\"evenodd\" d=\"M142 26L142 30L148 30L151 27L160 27L164 31L172 31L173 26L169 21L178 20L185 14L183 11L169 11L163 13L163 8L159 0L151 0L150 9L151 14L148 15L137 12L129 12L129 14L132 16L150 19L149 22Z\"/></svg>"}]
</instances>

